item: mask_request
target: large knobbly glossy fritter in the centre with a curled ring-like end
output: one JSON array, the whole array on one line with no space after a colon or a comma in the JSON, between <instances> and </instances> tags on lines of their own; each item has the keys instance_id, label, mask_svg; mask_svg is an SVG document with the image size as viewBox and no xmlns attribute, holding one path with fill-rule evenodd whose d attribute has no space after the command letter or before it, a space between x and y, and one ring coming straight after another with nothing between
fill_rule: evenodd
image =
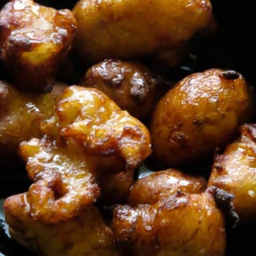
<instances>
[{"instance_id":1,"label":"large knobbly glossy fritter in the centre with a curled ring-like end","mask_svg":"<svg viewBox=\"0 0 256 256\"><path fill-rule=\"evenodd\" d=\"M41 128L48 137L22 142L20 156L34 182L26 194L30 216L45 223L68 220L95 203L98 184L122 199L134 168L151 153L147 128L97 89L67 87Z\"/></svg>"}]
</instances>

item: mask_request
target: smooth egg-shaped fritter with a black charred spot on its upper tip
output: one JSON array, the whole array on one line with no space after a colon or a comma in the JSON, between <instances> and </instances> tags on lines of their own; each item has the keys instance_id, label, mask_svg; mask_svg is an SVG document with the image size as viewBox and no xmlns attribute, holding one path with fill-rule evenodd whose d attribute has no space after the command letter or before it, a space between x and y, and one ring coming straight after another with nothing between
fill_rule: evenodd
<instances>
[{"instance_id":1,"label":"smooth egg-shaped fritter with a black charred spot on its upper tip","mask_svg":"<svg viewBox=\"0 0 256 256\"><path fill-rule=\"evenodd\" d=\"M202 161L226 146L254 111L254 90L236 71L209 69L187 76L159 101L151 122L159 164Z\"/></svg>"}]
</instances>

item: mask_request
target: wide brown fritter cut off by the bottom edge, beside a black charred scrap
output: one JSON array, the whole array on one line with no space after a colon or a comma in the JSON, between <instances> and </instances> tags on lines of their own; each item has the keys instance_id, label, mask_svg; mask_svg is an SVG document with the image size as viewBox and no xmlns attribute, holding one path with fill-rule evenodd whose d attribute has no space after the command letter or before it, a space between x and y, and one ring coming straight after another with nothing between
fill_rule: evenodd
<instances>
[{"instance_id":1,"label":"wide brown fritter cut off by the bottom edge, beside a black charred scrap","mask_svg":"<svg viewBox=\"0 0 256 256\"><path fill-rule=\"evenodd\" d=\"M212 188L152 206L117 206L111 227L122 256L225 255L225 221Z\"/></svg>"}]
</instances>

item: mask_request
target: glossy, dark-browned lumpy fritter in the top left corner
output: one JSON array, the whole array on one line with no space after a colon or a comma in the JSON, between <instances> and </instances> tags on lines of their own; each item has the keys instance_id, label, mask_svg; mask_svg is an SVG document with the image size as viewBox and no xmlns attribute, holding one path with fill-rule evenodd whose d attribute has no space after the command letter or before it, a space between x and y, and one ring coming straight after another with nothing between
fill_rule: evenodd
<instances>
[{"instance_id":1,"label":"glossy, dark-browned lumpy fritter in the top left corner","mask_svg":"<svg viewBox=\"0 0 256 256\"><path fill-rule=\"evenodd\" d=\"M0 12L0 59L14 84L29 92L49 92L71 47L76 21L57 11L13 0Z\"/></svg>"}]
</instances>

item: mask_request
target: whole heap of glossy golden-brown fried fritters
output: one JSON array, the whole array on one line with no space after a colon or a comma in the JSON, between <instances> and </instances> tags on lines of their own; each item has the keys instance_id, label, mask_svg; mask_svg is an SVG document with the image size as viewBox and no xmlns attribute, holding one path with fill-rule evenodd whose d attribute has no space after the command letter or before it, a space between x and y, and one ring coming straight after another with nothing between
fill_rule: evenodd
<instances>
[{"instance_id":1,"label":"whole heap of glossy golden-brown fried fritters","mask_svg":"<svg viewBox=\"0 0 256 256\"><path fill-rule=\"evenodd\" d=\"M177 66L215 27L209 0L4 5L0 159L31 180L4 204L13 239L42 256L225 255L226 222L256 213L254 88L221 69L173 86L139 61Z\"/></svg>"}]
</instances>

